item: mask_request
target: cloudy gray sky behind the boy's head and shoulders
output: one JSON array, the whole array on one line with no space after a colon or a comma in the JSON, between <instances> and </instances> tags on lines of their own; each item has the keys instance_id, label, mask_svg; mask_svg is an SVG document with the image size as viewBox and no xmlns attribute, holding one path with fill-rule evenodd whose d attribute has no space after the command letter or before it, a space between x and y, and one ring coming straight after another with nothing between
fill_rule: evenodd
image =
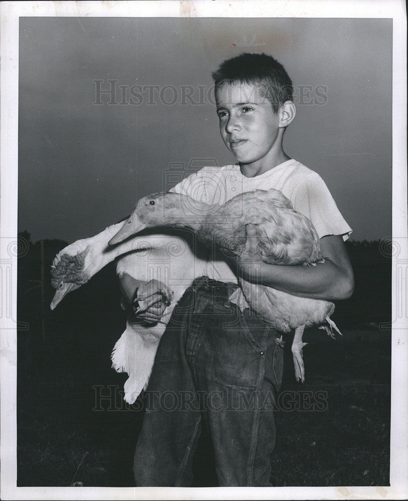
<instances>
[{"instance_id":1,"label":"cloudy gray sky behind the boy's head and shoulders","mask_svg":"<svg viewBox=\"0 0 408 501\"><path fill-rule=\"evenodd\" d=\"M285 151L322 176L352 238L390 236L392 20L381 19L21 18L19 231L91 236L183 169L233 163L211 71L241 52L288 71ZM94 104L95 80L109 79L118 104ZM167 104L152 87L132 104L136 85L160 86Z\"/></svg>"}]
</instances>

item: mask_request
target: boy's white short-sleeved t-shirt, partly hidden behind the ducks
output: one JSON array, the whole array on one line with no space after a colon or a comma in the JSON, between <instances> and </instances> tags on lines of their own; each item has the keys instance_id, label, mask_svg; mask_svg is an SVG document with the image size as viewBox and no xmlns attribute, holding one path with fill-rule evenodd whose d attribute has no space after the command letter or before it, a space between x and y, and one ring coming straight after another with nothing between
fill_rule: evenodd
<instances>
[{"instance_id":1,"label":"boy's white short-sleeved t-shirt, partly hidden behind the ducks","mask_svg":"<svg viewBox=\"0 0 408 501\"><path fill-rule=\"evenodd\" d=\"M321 238L342 235L351 228L344 220L323 179L296 160L287 160L255 177L245 177L238 164L224 167L203 167L183 179L170 191L189 195L208 204L224 204L234 196L256 189L275 188L292 202L293 208L308 217ZM221 254L207 266L207 275L222 282L237 282L237 277Z\"/></svg>"}]
</instances>

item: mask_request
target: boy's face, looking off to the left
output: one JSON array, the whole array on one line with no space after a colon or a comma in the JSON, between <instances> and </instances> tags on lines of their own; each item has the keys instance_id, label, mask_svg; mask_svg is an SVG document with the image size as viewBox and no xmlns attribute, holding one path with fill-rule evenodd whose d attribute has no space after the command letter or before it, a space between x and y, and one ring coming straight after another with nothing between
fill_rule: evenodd
<instances>
[{"instance_id":1,"label":"boy's face, looking off to the left","mask_svg":"<svg viewBox=\"0 0 408 501\"><path fill-rule=\"evenodd\" d=\"M220 132L241 164L268 161L279 132L279 114L257 85L224 84L216 91Z\"/></svg>"}]
</instances>

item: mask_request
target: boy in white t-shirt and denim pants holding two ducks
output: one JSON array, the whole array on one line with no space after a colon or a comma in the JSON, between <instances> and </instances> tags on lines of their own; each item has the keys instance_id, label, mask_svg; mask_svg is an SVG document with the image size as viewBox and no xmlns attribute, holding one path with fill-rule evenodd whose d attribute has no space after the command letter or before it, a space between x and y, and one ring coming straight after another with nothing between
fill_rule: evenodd
<instances>
[{"instance_id":1,"label":"boy in white t-shirt and denim pants holding two ducks","mask_svg":"<svg viewBox=\"0 0 408 501\"><path fill-rule=\"evenodd\" d=\"M250 225L239 261L214 256L208 277L187 289L160 341L148 387L156 405L146 409L135 452L137 485L190 485L202 426L213 441L220 485L271 485L282 341L250 309L241 312L229 301L237 274L328 301L346 299L353 290L344 246L351 228L318 174L290 159L282 147L295 116L285 69L268 55L241 54L222 63L213 78L221 136L237 164L203 168L173 190L211 204L244 191L278 189L311 219L326 259L310 268L266 263ZM139 285L143 295L154 297L154 284ZM135 284L124 281L122 289L131 304ZM142 318L155 321L163 310L156 305Z\"/></svg>"}]
</instances>

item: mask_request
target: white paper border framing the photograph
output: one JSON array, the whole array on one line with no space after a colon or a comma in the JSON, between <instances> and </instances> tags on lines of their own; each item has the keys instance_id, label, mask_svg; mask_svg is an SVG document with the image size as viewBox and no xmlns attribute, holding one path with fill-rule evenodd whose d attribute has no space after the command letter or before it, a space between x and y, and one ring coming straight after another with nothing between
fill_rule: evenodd
<instances>
[{"instance_id":1,"label":"white paper border framing the photograph","mask_svg":"<svg viewBox=\"0 0 408 501\"><path fill-rule=\"evenodd\" d=\"M297 17L392 18L392 236L400 248L402 275L392 260L392 379L390 486L330 487L17 487L17 275L1 322L2 499L404 499L408 497L408 277L406 177L406 12L401 0L171 0L140 2L2 2L1 9L1 222L0 263L17 269L19 17ZM396 304L397 292L402 303ZM1 305L0 305L1 306ZM399 310L397 311L397 308ZM402 308L402 315L400 314Z\"/></svg>"}]
</instances>

